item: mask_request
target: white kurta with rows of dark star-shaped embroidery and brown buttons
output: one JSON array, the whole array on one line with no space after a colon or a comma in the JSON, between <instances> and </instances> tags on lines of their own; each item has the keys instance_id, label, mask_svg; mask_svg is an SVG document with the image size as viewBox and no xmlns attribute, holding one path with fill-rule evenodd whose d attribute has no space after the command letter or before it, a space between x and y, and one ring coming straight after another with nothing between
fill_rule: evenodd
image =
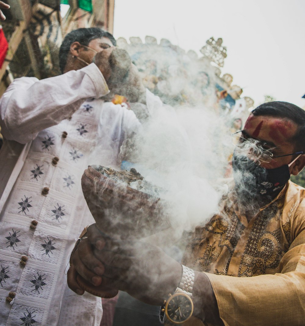
<instances>
[{"instance_id":1,"label":"white kurta with rows of dark star-shaped embroidery and brown buttons","mask_svg":"<svg viewBox=\"0 0 305 326\"><path fill-rule=\"evenodd\" d=\"M140 125L133 111L99 99L107 93L91 64L17 79L1 99L1 325L100 323L100 298L77 296L64 271L76 238L94 222L81 190L84 169L117 166L123 140Z\"/></svg>"}]
</instances>

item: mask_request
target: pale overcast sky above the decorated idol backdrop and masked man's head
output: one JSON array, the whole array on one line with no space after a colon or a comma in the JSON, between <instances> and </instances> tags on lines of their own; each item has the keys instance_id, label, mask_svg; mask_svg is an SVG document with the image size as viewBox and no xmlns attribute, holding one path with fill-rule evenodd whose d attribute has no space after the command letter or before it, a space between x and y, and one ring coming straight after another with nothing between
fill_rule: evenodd
<instances>
[{"instance_id":1,"label":"pale overcast sky above the decorated idol backdrop and masked man's head","mask_svg":"<svg viewBox=\"0 0 305 326\"><path fill-rule=\"evenodd\" d=\"M115 0L115 38L150 35L200 53L208 38L222 37L221 71L255 105L271 95L305 107L304 34L304 0Z\"/></svg>"}]
</instances>

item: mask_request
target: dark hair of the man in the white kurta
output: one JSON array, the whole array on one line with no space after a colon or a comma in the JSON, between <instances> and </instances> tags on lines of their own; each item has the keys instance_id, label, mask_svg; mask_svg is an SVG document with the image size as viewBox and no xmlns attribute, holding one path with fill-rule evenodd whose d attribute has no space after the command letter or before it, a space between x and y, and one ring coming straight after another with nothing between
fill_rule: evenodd
<instances>
[{"instance_id":1,"label":"dark hair of the man in the white kurta","mask_svg":"<svg viewBox=\"0 0 305 326\"><path fill-rule=\"evenodd\" d=\"M82 45L88 46L90 41L100 37L108 37L112 44L116 45L113 35L99 27L79 28L67 34L59 49L59 67L61 72L63 73L66 67L70 46L73 42L79 42Z\"/></svg>"}]
</instances>

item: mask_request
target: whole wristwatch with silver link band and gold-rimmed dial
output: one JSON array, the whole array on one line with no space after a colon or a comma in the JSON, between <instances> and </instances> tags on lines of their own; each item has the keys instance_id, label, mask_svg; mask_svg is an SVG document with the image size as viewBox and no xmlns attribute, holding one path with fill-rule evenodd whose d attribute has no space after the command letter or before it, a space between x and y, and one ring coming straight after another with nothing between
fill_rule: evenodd
<instances>
[{"instance_id":1,"label":"whole wristwatch with silver link band and gold-rimmed dial","mask_svg":"<svg viewBox=\"0 0 305 326\"><path fill-rule=\"evenodd\" d=\"M164 325L177 325L187 321L194 309L192 290L194 286L195 272L182 265L183 273L179 286L174 294L164 301L160 308L160 322Z\"/></svg>"}]
</instances>

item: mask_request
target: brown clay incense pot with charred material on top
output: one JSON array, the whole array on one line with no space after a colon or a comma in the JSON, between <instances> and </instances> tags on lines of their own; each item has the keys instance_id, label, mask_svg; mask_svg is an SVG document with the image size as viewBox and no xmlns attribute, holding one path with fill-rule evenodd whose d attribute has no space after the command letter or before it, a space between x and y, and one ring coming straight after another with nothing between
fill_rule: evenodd
<instances>
[{"instance_id":1,"label":"brown clay incense pot with charred material on top","mask_svg":"<svg viewBox=\"0 0 305 326\"><path fill-rule=\"evenodd\" d=\"M134 169L127 172L89 166L84 171L84 198L96 226L103 234L117 241L136 240L170 227L165 214L165 202L156 195L130 186L133 182L143 181L143 177ZM77 278L84 290L97 295L99 287L92 286L80 275ZM104 291L99 294L105 295L108 294Z\"/></svg>"}]
</instances>

